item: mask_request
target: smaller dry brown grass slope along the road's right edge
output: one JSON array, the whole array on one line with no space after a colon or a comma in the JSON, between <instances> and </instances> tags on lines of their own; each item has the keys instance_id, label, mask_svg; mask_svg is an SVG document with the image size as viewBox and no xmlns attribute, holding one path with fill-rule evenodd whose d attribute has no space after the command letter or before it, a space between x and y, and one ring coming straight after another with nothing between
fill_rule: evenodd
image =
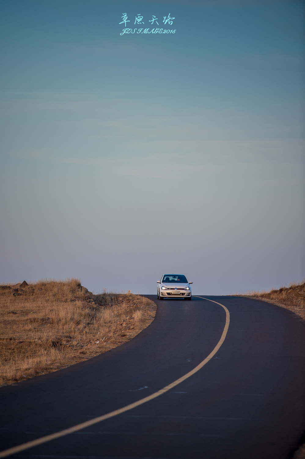
<instances>
[{"instance_id":1,"label":"smaller dry brown grass slope along the road's right edge","mask_svg":"<svg viewBox=\"0 0 305 459\"><path fill-rule=\"evenodd\" d=\"M269 303L287 308L305 319L305 280L302 282L291 282L288 287L281 287L278 290L270 291L248 291L240 294L241 297L257 298Z\"/></svg>"}]
</instances>

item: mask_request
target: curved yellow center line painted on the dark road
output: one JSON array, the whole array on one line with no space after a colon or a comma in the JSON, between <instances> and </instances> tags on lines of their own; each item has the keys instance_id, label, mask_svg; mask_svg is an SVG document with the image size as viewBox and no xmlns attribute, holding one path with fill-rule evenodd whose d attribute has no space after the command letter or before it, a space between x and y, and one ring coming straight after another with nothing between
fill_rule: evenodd
<instances>
[{"instance_id":1,"label":"curved yellow center line painted on the dark road","mask_svg":"<svg viewBox=\"0 0 305 459\"><path fill-rule=\"evenodd\" d=\"M190 376L194 375L194 373L196 373L198 370L200 370L200 368L202 368L205 364L209 362L209 360L216 354L218 349L221 347L227 335L227 330L229 328L229 323L230 323L230 313L227 310L227 308L223 306L223 304L217 303L216 301L209 300L208 298L204 298L204 297L197 296L197 298L201 298L201 299L208 300L213 303L219 304L219 306L222 306L222 308L224 308L224 310L226 311L226 324L223 329L222 336L220 340L218 341L218 343L216 344L216 346L214 347L214 349L212 350L212 352L202 362L200 362L199 365L197 365L194 369L189 371L189 373L187 373L186 375L181 376L181 378L172 382L168 386L163 387L163 389L160 389L159 391L154 392L148 397L141 398L137 402L130 403L129 405L124 406L123 408L116 409L115 411L111 411L110 413L103 414L102 416L98 416L97 418L90 419L89 421L86 421L86 422L82 422L81 424L73 425L73 427L69 427L69 429L64 429L62 431L55 432L50 435L46 435L45 437L37 438L36 440L32 440L31 442L22 443L22 445L14 446L13 448L9 448L4 451L1 451L0 458L5 458L7 456L11 456L11 454L15 454L15 453L19 453L20 451L24 451L25 449L33 448L33 446L37 446L37 445L41 445L42 443L50 442L51 440L54 440L55 438L64 437L65 435L80 431L82 429L85 429L86 427L89 427L90 425L94 425L100 421L104 421L105 419L113 418L114 416L117 416L118 414L125 413L125 411L136 408L137 406L142 405L143 403L149 402L150 400L153 400L154 398L159 397L159 395L164 394L164 392L169 391L173 387L177 386L177 384L180 384L180 382L185 381Z\"/></svg>"}]
</instances>

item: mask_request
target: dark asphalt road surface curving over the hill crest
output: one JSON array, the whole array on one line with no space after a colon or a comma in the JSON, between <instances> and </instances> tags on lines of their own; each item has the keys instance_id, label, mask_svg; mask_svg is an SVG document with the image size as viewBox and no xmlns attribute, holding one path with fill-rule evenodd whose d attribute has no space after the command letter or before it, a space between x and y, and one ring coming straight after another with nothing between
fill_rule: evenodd
<instances>
[{"instance_id":1,"label":"dark asphalt road surface curving over the hill crest","mask_svg":"<svg viewBox=\"0 0 305 459\"><path fill-rule=\"evenodd\" d=\"M214 349L224 309L153 299L154 322L132 341L67 369L0 389L0 450L146 397ZM242 297L215 356L141 406L13 456L19 458L287 459L305 429L305 321Z\"/></svg>"}]
</instances>

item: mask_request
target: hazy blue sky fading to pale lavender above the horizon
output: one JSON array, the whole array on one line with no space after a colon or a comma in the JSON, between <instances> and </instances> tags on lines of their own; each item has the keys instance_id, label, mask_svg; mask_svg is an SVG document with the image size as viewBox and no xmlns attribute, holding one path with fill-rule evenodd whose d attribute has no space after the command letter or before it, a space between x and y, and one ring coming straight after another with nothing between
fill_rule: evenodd
<instances>
[{"instance_id":1,"label":"hazy blue sky fading to pale lavender above the horizon","mask_svg":"<svg viewBox=\"0 0 305 459\"><path fill-rule=\"evenodd\" d=\"M303 280L304 10L1 0L0 282Z\"/></svg>"}]
</instances>

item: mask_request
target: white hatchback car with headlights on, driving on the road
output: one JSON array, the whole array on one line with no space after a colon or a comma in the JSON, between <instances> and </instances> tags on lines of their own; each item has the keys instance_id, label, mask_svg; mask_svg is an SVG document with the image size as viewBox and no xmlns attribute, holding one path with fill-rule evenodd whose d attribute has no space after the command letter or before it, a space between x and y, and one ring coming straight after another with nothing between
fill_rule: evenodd
<instances>
[{"instance_id":1,"label":"white hatchback car with headlights on, driving on the road","mask_svg":"<svg viewBox=\"0 0 305 459\"><path fill-rule=\"evenodd\" d=\"M157 297L158 300L163 298L179 298L184 300L192 299L190 284L183 274L164 274L160 280L157 280Z\"/></svg>"}]
</instances>

